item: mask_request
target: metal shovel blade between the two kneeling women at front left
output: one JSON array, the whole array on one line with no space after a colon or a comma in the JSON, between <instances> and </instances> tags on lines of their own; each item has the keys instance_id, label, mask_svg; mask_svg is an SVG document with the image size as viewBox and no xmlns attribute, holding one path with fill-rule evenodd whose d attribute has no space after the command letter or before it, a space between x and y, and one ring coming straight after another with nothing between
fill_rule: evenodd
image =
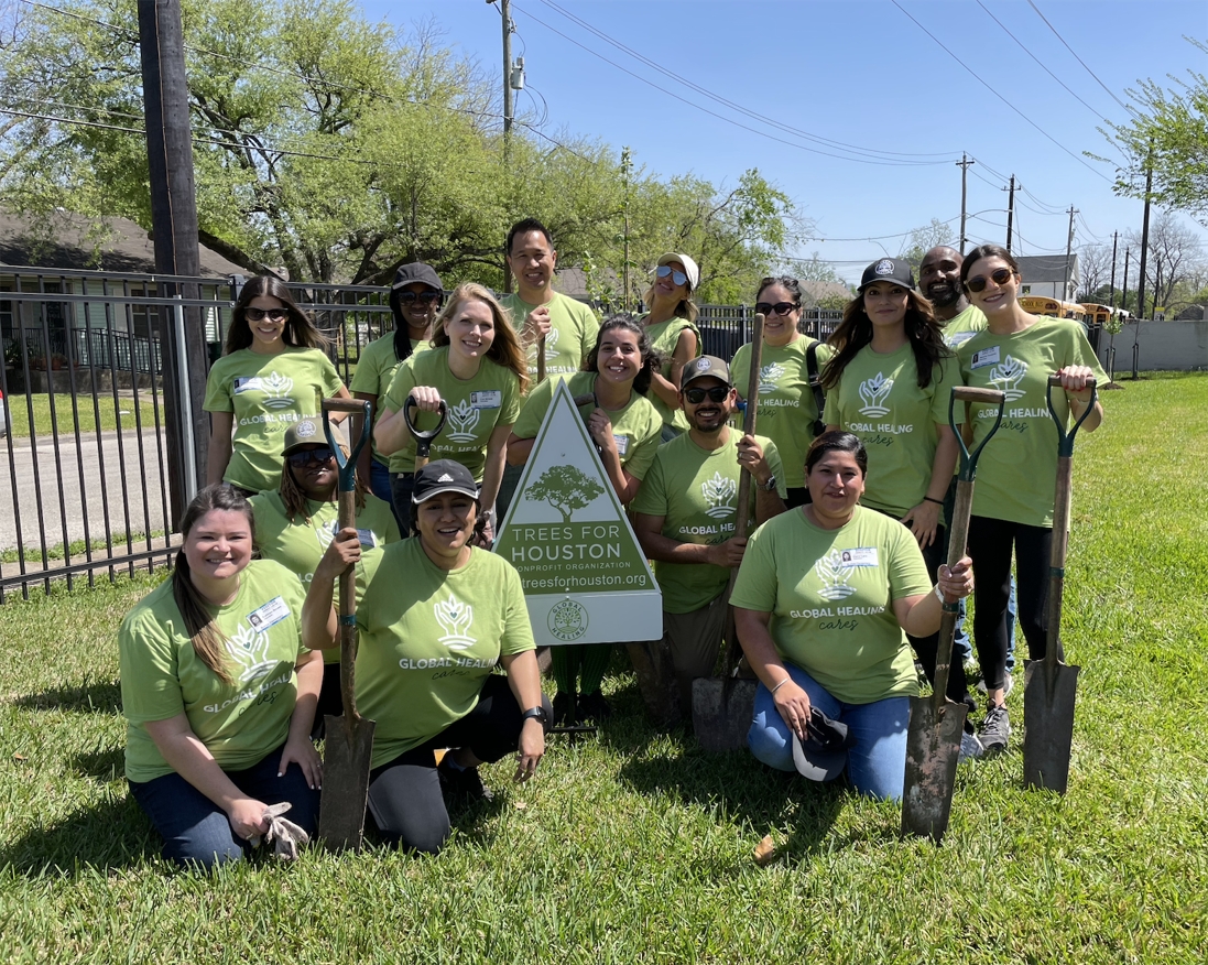
<instances>
[{"instance_id":1,"label":"metal shovel blade between the two kneeling women at front left","mask_svg":"<svg viewBox=\"0 0 1208 965\"><path fill-rule=\"evenodd\" d=\"M359 851L370 796L373 721L327 716L319 798L319 837L331 851Z\"/></svg>"}]
</instances>

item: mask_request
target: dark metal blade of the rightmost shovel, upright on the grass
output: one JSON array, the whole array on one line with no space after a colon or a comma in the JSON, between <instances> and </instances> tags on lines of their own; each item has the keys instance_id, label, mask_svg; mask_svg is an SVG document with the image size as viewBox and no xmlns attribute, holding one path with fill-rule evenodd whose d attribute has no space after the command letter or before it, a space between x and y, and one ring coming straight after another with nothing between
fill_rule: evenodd
<instances>
[{"instance_id":1,"label":"dark metal blade of the rightmost shovel, upright on the grass","mask_svg":"<svg viewBox=\"0 0 1208 965\"><path fill-rule=\"evenodd\" d=\"M1024 669L1023 784L1065 793L1081 667L1028 661Z\"/></svg>"}]
</instances>

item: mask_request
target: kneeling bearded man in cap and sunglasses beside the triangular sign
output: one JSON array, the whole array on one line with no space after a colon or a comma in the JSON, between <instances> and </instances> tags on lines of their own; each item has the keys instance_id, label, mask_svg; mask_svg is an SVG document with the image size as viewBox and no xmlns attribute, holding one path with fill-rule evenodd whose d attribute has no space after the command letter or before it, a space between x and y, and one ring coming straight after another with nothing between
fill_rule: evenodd
<instances>
[{"instance_id":1,"label":"kneeling bearded man in cap and sunglasses beside the triangular sign","mask_svg":"<svg viewBox=\"0 0 1208 965\"><path fill-rule=\"evenodd\" d=\"M692 681L709 676L718 659L726 585L747 547L736 535L739 473L751 473L755 527L786 508L776 444L730 426L738 395L728 366L712 355L687 362L679 397L689 431L658 448L633 504L634 530L663 594L663 636L629 644L629 655L661 723L691 715Z\"/></svg>"}]
</instances>

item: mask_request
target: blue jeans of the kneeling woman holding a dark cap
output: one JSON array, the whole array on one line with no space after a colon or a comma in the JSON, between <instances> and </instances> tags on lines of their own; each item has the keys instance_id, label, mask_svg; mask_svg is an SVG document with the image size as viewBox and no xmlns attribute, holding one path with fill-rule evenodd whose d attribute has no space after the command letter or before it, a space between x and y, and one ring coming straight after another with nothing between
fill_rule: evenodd
<instances>
[{"instance_id":1,"label":"blue jeans of the kneeling woman holding a dark cap","mask_svg":"<svg viewBox=\"0 0 1208 965\"><path fill-rule=\"evenodd\" d=\"M852 786L869 797L900 801L906 783L910 698L887 697L871 704L844 704L800 667L785 662L784 668L792 682L809 696L813 707L831 720L846 723L855 736L855 746L847 752L847 775ZM768 767L796 769L789 725L762 684L755 691L755 717L747 733L747 745L755 758Z\"/></svg>"}]
</instances>

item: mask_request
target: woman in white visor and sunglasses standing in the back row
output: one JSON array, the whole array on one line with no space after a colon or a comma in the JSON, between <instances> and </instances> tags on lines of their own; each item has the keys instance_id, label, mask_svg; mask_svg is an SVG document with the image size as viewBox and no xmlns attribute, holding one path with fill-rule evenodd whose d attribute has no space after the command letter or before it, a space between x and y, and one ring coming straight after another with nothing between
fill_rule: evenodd
<instances>
[{"instance_id":1,"label":"woman in white visor and sunglasses standing in the back row","mask_svg":"<svg viewBox=\"0 0 1208 965\"><path fill-rule=\"evenodd\" d=\"M689 428L679 403L679 376L684 365L701 354L701 330L696 327L701 313L692 301L692 292L699 284L701 269L692 258L674 251L663 255L646 291L650 310L639 315L651 347L662 356L650 383L649 397L663 420L663 442Z\"/></svg>"}]
</instances>

